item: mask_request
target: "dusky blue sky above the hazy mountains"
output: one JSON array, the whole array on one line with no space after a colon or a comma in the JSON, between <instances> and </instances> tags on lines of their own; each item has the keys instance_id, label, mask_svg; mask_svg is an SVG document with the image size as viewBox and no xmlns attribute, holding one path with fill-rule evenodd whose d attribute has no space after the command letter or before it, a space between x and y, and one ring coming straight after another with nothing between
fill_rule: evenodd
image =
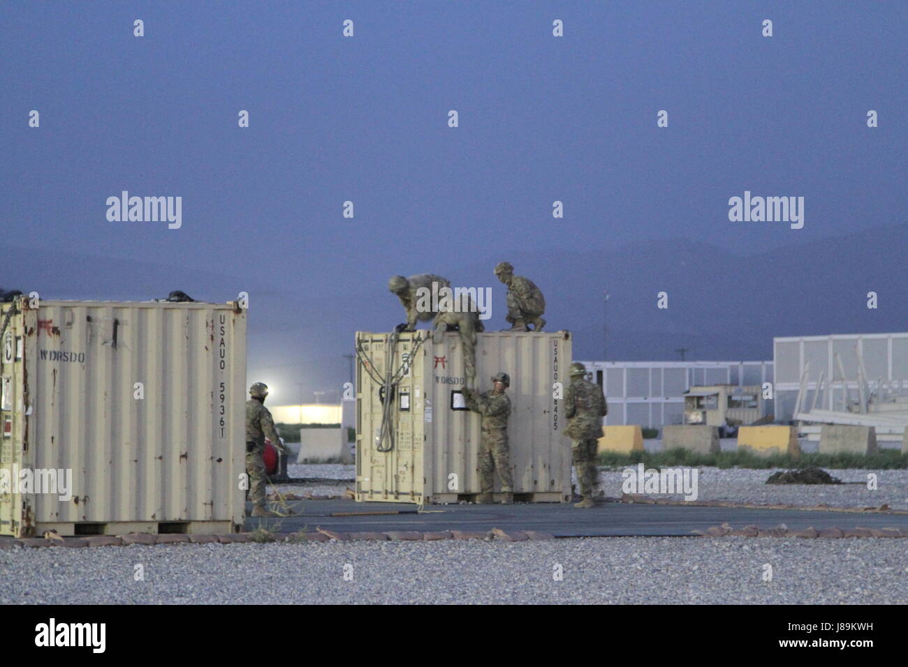
<instances>
[{"instance_id":1,"label":"dusky blue sky above the hazy mountains","mask_svg":"<svg viewBox=\"0 0 908 667\"><path fill-rule=\"evenodd\" d=\"M343 38L348 18L355 36ZM333 386L353 330L400 321L384 289L391 274L438 270L497 288L493 260L532 253L523 272L550 301L565 300L578 274L601 278L588 257L572 265L572 252L684 240L755 255L904 222L906 34L904 2L4 3L5 238L100 258L85 270L112 291L130 280L109 258L170 268L121 298L194 289L226 300L248 284L261 312L288 295L308 303L281 319L294 341L281 358L264 351L276 343L252 312L251 363L297 364L287 373L298 374L301 359L330 357L331 368L301 372L313 388ZM32 109L38 129L27 124ZM241 109L248 129L237 126ZM661 109L666 129L656 127ZM107 221L104 201L123 190L182 196L182 229ZM728 221L728 198L745 190L804 196L804 229ZM341 217L347 200L353 220ZM562 220L551 215L556 200ZM848 267L843 253L823 270ZM473 272L487 259L488 273ZM620 302L620 281L644 280L648 268L590 293L608 287ZM222 276L223 289L168 282L184 270ZM54 271L33 266L0 284L108 296L78 293L79 280ZM876 272L903 307L904 272ZM753 281L747 289L762 289ZM326 303L351 313L341 330L307 324ZM357 319L360 309L369 316ZM903 314L867 329L898 329ZM558 322L589 329L577 356L601 348L599 315ZM781 335L790 315L766 312L767 330ZM765 338L735 357L766 356ZM628 343L625 356L668 358L682 344Z\"/></svg>"}]
</instances>

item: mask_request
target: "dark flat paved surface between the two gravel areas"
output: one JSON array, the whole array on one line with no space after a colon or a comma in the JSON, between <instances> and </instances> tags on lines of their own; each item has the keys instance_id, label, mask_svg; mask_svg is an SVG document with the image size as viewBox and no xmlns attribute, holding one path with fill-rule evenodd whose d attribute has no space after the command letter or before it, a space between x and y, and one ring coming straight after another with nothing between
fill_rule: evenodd
<instances>
[{"instance_id":1,"label":"dark flat paved surface between the two gravel areas","mask_svg":"<svg viewBox=\"0 0 908 667\"><path fill-rule=\"evenodd\" d=\"M814 528L908 527L908 515L824 512L818 510L774 510L686 505L638 505L604 503L592 509L573 505L432 505L429 512L416 513L415 505L357 503L353 500L290 501L299 516L276 519L250 518L246 529L262 527L291 533L306 526L341 532L383 532L391 530L536 530L559 537L581 536L673 536L691 535L728 522L735 528L756 525L772 528L785 524L792 530ZM251 507L252 505L250 505ZM339 512L392 512L399 515L331 516Z\"/></svg>"}]
</instances>

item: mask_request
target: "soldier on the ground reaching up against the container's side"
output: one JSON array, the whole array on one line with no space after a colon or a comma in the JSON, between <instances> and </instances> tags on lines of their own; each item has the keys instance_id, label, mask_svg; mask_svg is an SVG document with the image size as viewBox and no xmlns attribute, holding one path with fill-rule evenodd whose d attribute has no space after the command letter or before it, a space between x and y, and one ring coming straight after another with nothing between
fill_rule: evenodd
<instances>
[{"instance_id":1,"label":"soldier on the ground reaching up against the container's side","mask_svg":"<svg viewBox=\"0 0 908 667\"><path fill-rule=\"evenodd\" d=\"M479 443L479 489L477 503L492 502L492 487L495 484L495 471L501 479L503 505L514 502L514 484L511 479L510 456L508 455L508 416L510 415L510 398L505 388L510 387L507 373L498 373L492 382L495 388L483 394L475 389L464 389L463 395L467 407L482 415L482 439Z\"/></svg>"}]
</instances>

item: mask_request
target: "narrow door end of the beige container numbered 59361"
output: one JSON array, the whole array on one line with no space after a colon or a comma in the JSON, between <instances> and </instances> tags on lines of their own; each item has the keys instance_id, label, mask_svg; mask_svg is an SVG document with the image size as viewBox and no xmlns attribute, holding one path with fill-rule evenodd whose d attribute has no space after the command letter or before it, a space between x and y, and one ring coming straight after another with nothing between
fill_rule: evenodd
<instances>
[{"instance_id":1,"label":"narrow door end of the beige container numbered 59361","mask_svg":"<svg viewBox=\"0 0 908 667\"><path fill-rule=\"evenodd\" d=\"M22 518L29 501L19 493L25 435L23 320L13 304L4 304L0 311L0 535L23 535Z\"/></svg>"}]
</instances>

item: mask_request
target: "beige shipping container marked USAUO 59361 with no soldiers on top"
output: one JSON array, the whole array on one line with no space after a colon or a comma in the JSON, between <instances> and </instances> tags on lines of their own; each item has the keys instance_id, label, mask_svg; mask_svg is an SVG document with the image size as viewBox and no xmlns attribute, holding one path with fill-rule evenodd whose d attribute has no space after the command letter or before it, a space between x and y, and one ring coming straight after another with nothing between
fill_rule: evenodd
<instances>
[{"instance_id":1,"label":"beige shipping container marked USAUO 59361 with no soldiers on top","mask_svg":"<svg viewBox=\"0 0 908 667\"><path fill-rule=\"evenodd\" d=\"M0 314L0 534L240 529L244 309L26 297Z\"/></svg>"}]
</instances>

